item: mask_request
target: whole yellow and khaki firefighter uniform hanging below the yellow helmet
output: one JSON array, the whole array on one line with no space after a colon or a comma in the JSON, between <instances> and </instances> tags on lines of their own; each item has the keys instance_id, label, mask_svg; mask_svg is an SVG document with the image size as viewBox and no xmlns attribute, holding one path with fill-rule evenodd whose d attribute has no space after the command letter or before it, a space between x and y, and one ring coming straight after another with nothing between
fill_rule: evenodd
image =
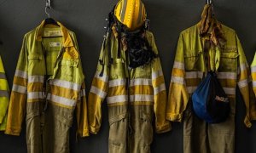
<instances>
[{"instance_id":1,"label":"whole yellow and khaki firefighter uniform hanging below the yellow helmet","mask_svg":"<svg viewBox=\"0 0 256 153\"><path fill-rule=\"evenodd\" d=\"M144 37L154 53L158 54L153 34L145 31ZM107 99L110 126L108 152L148 152L153 140L153 116L156 133L171 130L170 122L166 121L166 85L160 58L155 58L149 65L127 71L125 52L127 50L121 48L118 57L118 40L114 35L103 42L88 99L90 133L100 130L102 102ZM110 56L113 60L111 65L108 63ZM126 78L129 76L128 102Z\"/></svg>"}]
</instances>

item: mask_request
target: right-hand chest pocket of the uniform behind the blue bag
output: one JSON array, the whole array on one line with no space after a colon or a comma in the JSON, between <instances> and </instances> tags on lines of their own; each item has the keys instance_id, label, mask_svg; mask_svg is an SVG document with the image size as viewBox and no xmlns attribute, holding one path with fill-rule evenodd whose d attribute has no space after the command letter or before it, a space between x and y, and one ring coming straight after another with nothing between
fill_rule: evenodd
<instances>
[{"instance_id":1,"label":"right-hand chest pocket of the uniform behind the blue bag","mask_svg":"<svg viewBox=\"0 0 256 153\"><path fill-rule=\"evenodd\" d=\"M220 54L219 71L237 71L238 56L236 52L224 52Z\"/></svg>"}]
</instances>

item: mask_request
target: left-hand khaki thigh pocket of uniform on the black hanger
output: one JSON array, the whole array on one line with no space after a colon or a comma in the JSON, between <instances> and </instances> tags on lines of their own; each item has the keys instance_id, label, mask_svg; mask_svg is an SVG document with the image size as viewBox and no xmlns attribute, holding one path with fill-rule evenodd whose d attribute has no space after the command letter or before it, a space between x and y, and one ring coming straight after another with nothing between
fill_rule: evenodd
<instances>
[{"instance_id":1,"label":"left-hand khaki thigh pocket of uniform on the black hanger","mask_svg":"<svg viewBox=\"0 0 256 153\"><path fill-rule=\"evenodd\" d=\"M26 114L26 144L27 149L39 147L41 144L39 110L30 111Z\"/></svg>"}]
</instances>

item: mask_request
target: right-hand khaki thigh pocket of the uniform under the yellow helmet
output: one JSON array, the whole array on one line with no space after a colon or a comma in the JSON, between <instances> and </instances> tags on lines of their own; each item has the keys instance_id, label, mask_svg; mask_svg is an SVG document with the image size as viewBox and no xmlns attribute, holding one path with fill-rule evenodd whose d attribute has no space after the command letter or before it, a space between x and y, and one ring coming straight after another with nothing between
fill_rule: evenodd
<instances>
[{"instance_id":1,"label":"right-hand khaki thigh pocket of the uniform under the yellow helmet","mask_svg":"<svg viewBox=\"0 0 256 153\"><path fill-rule=\"evenodd\" d=\"M140 126L141 129L139 131L139 138L142 139L141 148L147 148L146 146L150 146L153 141L153 127L152 127L152 115L146 111L140 111Z\"/></svg>"}]
</instances>

